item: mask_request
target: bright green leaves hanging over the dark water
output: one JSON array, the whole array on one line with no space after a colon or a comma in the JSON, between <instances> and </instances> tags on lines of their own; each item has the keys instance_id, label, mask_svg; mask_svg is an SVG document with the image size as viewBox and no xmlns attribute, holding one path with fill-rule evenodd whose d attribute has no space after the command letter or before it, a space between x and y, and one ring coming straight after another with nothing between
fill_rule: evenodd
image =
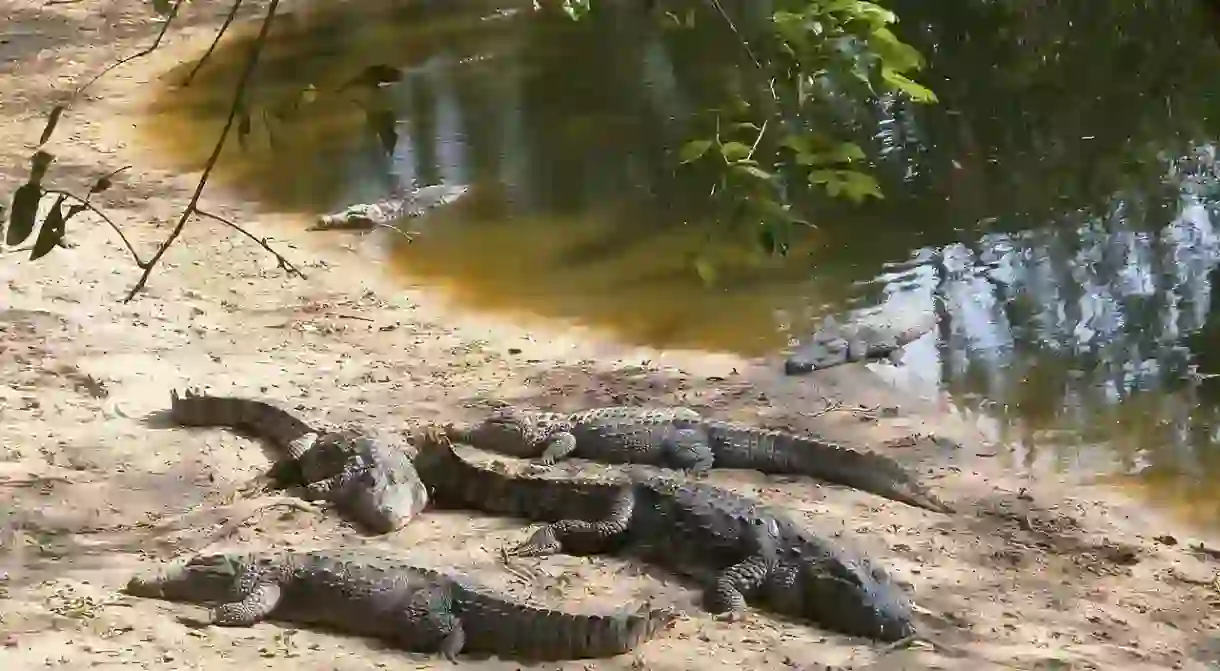
<instances>
[{"instance_id":1,"label":"bright green leaves hanging over the dark water","mask_svg":"<svg viewBox=\"0 0 1220 671\"><path fill-rule=\"evenodd\" d=\"M756 227L767 253L784 254L794 226L810 226L795 214L793 196L817 188L854 203L883 198L881 187L861 165L866 156L854 143L819 132L824 109L839 90L854 85L865 98L903 95L914 102L936 102L936 95L910 74L924 66L920 54L891 30L897 16L865 0L793 0L772 4L769 26L749 39L720 0L708 0L683 15L670 12L675 28L688 29L700 11L722 21L741 41L742 59L753 68L756 88L750 102L737 98L730 109L709 110L710 138L688 142L683 165L711 162L711 193L727 203L727 223Z\"/></svg>"}]
</instances>

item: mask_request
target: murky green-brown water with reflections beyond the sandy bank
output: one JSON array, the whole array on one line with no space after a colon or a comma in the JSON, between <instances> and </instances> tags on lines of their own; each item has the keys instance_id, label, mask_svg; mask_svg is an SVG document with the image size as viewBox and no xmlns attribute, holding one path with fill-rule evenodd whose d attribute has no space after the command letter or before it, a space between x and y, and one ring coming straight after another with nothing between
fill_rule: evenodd
<instances>
[{"instance_id":1,"label":"murky green-brown water with reflections beyond the sandy bank","mask_svg":"<svg viewBox=\"0 0 1220 671\"><path fill-rule=\"evenodd\" d=\"M734 85L720 35L528 5L373 1L283 20L257 102L400 66L398 143L387 157L359 107L321 95L270 137L256 115L226 179L309 212L471 183L414 223L415 244L384 237L396 267L471 306L633 342L771 354L827 312L939 305L905 383L989 417L1015 445L998 459L1137 475L1220 522L1216 394L1183 377L1220 371L1207 361L1220 54L1202 2L892 2L941 104L847 115L841 132L888 198L809 204L819 229L784 260L706 239L703 187L675 171L691 111ZM156 110L152 132L184 165L218 127L237 44ZM692 270L700 255L721 268L712 285Z\"/></svg>"}]
</instances>

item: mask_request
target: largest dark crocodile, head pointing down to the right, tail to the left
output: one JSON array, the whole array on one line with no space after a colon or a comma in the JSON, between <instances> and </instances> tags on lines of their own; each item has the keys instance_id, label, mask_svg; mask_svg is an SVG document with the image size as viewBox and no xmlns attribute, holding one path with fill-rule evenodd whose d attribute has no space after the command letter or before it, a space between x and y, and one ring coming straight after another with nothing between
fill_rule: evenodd
<instances>
[{"instance_id":1,"label":"largest dark crocodile, head pointing down to the right, tail to the left","mask_svg":"<svg viewBox=\"0 0 1220 671\"><path fill-rule=\"evenodd\" d=\"M416 468L437 508L545 522L509 556L614 553L705 586L704 604L736 620L756 603L842 633L898 640L914 633L911 604L886 571L782 511L705 483L510 475L467 461L448 433L417 437Z\"/></svg>"}]
</instances>

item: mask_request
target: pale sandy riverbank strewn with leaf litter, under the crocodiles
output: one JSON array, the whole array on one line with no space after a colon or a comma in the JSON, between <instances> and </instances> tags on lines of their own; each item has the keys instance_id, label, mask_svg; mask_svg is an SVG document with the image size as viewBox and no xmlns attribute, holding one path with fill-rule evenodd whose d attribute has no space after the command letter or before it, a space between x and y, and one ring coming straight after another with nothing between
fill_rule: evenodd
<instances>
[{"instance_id":1,"label":"pale sandy riverbank strewn with leaf litter, under the crocodiles","mask_svg":"<svg viewBox=\"0 0 1220 671\"><path fill-rule=\"evenodd\" d=\"M146 4L133 0L45 7L0 0L0 7L10 17L0 27L7 40L0 61L9 63L0 70L0 194L7 199L51 102L146 44L157 24ZM165 170L142 146L134 133L142 95L177 57L201 51L223 9L188 5L189 27L159 56L98 84L49 148L59 156L52 176L81 192L100 172L134 166L99 204L126 222L142 250L167 233L196 179ZM0 257L5 669L448 666L276 623L195 631L173 619L188 606L117 595L145 562L209 545L244 505L227 506L226 497L267 464L255 443L223 431L143 423L167 405L171 388L185 386L264 395L310 420L361 422L388 439L425 421L470 417L487 398L550 407L681 401L887 450L927 471L963 510L946 517L808 479L715 476L884 558L910 584L927 611L922 625L939 643L888 653L762 615L714 622L678 582L612 559L553 558L538 565L542 584L515 583L494 555L520 538L521 525L509 520L426 514L368 540L328 516L268 512L209 545L372 543L556 605L653 598L687 611L634 655L565 669L1208 669L1220 659L1209 633L1220 562L1190 549L1197 534L1109 490L1076 488L1066 498L1064 487L993 472L960 422L864 368L792 381L775 375L775 362L626 349L575 329L461 314L443 296L379 276L370 261L373 237L306 233L299 221L220 189L205 204L274 238L309 279L287 278L262 250L205 221L190 224L149 290L128 305L118 299L135 268L96 220L81 217L70 232L77 246L39 264ZM824 398L899 410L819 415ZM928 431L964 447L899 447ZM1032 497L1019 495L1022 488Z\"/></svg>"}]
</instances>

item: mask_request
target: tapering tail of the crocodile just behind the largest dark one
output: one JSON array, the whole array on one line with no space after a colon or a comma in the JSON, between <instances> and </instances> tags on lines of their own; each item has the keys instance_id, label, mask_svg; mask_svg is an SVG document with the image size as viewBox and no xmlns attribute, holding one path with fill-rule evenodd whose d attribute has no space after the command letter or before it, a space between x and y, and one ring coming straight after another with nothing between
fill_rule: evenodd
<instances>
[{"instance_id":1,"label":"tapering tail of the crocodile just behind the largest dark one","mask_svg":"<svg viewBox=\"0 0 1220 671\"><path fill-rule=\"evenodd\" d=\"M936 512L944 501L888 456L734 422L705 421L717 468L810 476Z\"/></svg>"}]
</instances>

